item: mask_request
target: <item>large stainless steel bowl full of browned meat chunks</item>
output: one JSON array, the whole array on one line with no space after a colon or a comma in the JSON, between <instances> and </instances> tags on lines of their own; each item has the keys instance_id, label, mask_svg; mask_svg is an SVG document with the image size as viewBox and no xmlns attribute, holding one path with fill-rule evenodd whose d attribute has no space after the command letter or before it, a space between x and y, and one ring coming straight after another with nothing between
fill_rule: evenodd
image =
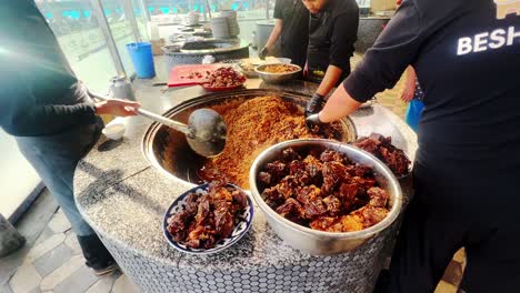
<instances>
[{"instance_id":1,"label":"large stainless steel bowl full of browned meat chunks","mask_svg":"<svg viewBox=\"0 0 520 293\"><path fill-rule=\"evenodd\" d=\"M401 211L402 191L390 169L332 140L291 140L264 150L249 184L274 232L313 255L357 249Z\"/></svg>"}]
</instances>

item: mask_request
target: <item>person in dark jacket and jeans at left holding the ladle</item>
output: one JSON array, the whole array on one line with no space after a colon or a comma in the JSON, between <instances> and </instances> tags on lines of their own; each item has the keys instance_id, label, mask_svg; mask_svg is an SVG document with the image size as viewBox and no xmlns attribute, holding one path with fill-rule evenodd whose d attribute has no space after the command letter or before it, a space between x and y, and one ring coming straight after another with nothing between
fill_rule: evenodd
<instances>
[{"instance_id":1,"label":"person in dark jacket and jeans at left holding the ladle","mask_svg":"<svg viewBox=\"0 0 520 293\"><path fill-rule=\"evenodd\" d=\"M114 271L114 260L76 206L72 179L100 135L97 114L133 115L139 104L94 103L32 0L1 4L0 19L0 127L14 135L60 204L87 265L99 275Z\"/></svg>"}]
</instances>

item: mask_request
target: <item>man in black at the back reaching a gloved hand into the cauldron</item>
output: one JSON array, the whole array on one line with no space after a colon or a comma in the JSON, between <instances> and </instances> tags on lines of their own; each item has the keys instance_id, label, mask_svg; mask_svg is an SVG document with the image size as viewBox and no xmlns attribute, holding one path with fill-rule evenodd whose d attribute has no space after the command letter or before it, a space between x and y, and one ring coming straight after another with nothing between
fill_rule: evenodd
<instances>
[{"instance_id":1,"label":"man in black at the back reaching a gloved hand into the cauldron","mask_svg":"<svg viewBox=\"0 0 520 293\"><path fill-rule=\"evenodd\" d=\"M310 16L304 74L320 85L306 114L350 74L350 58L358 36L359 8L354 0L303 0Z\"/></svg>"}]
</instances>

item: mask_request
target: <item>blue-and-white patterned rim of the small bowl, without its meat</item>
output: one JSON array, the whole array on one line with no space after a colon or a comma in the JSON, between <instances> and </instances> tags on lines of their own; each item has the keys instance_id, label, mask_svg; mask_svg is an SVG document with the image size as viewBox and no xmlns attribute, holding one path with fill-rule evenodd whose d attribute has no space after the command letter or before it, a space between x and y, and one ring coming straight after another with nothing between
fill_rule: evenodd
<instances>
[{"instance_id":1,"label":"blue-and-white patterned rim of the small bowl, without its meat","mask_svg":"<svg viewBox=\"0 0 520 293\"><path fill-rule=\"evenodd\" d=\"M233 184L228 183L228 186L240 190L239 186L233 185ZM170 206L168 208L168 210L167 210L167 212L164 214L164 220L162 221L162 232L164 234L164 238L167 239L168 243L170 243L170 245L173 249L176 249L176 250L178 250L180 252L184 252L184 253L189 253L189 254L198 254L198 255L221 252L221 251L230 247L234 243L237 243L243 235L246 235L249 228L251 226L252 218L253 218L253 204L252 204L250 195L244 192L244 194L247 195L247 199L248 199L248 206L246 208L243 213L239 216L240 220L234 225L234 230L231 233L231 236L221 240L220 242L217 243L217 245L214 247L209 249L209 250L206 250L206 249L191 249L191 247L186 246L182 243L179 243L179 242L174 241L171 238L171 235L170 235L170 233L168 232L168 229L167 229L168 228L168 219L170 219L172 215L174 215L177 213L182 212L186 209L186 200L187 200L187 198L188 198L188 195L190 193L194 192L194 193L198 193L198 194L207 194L208 193L208 188L209 188L209 184L206 183L206 184L196 186L196 188L182 193L181 195L179 195L179 198L177 198L170 204Z\"/></svg>"}]
</instances>

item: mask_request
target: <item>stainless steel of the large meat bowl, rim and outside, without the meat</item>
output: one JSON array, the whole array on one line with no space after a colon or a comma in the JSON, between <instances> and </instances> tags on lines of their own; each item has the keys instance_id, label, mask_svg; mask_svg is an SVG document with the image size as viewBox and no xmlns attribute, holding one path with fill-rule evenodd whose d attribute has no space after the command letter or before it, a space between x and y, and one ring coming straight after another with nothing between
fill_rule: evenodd
<instances>
[{"instance_id":1,"label":"stainless steel of the large meat bowl, rim and outside, without the meat","mask_svg":"<svg viewBox=\"0 0 520 293\"><path fill-rule=\"evenodd\" d=\"M258 173L263 170L264 165L281 158L282 150L287 148L293 148L297 152L310 149L332 149L347 154L353 162L372 166L379 186L384 189L390 195L391 209L387 218L369 229L357 232L332 233L312 230L279 215L263 201L257 179ZM254 201L266 214L266 219L272 230L292 247L313 255L338 254L357 249L370 238L390 226L398 218L402 204L401 186L390 169L366 151L331 140L291 140L272 145L254 160L249 173L249 185Z\"/></svg>"}]
</instances>

